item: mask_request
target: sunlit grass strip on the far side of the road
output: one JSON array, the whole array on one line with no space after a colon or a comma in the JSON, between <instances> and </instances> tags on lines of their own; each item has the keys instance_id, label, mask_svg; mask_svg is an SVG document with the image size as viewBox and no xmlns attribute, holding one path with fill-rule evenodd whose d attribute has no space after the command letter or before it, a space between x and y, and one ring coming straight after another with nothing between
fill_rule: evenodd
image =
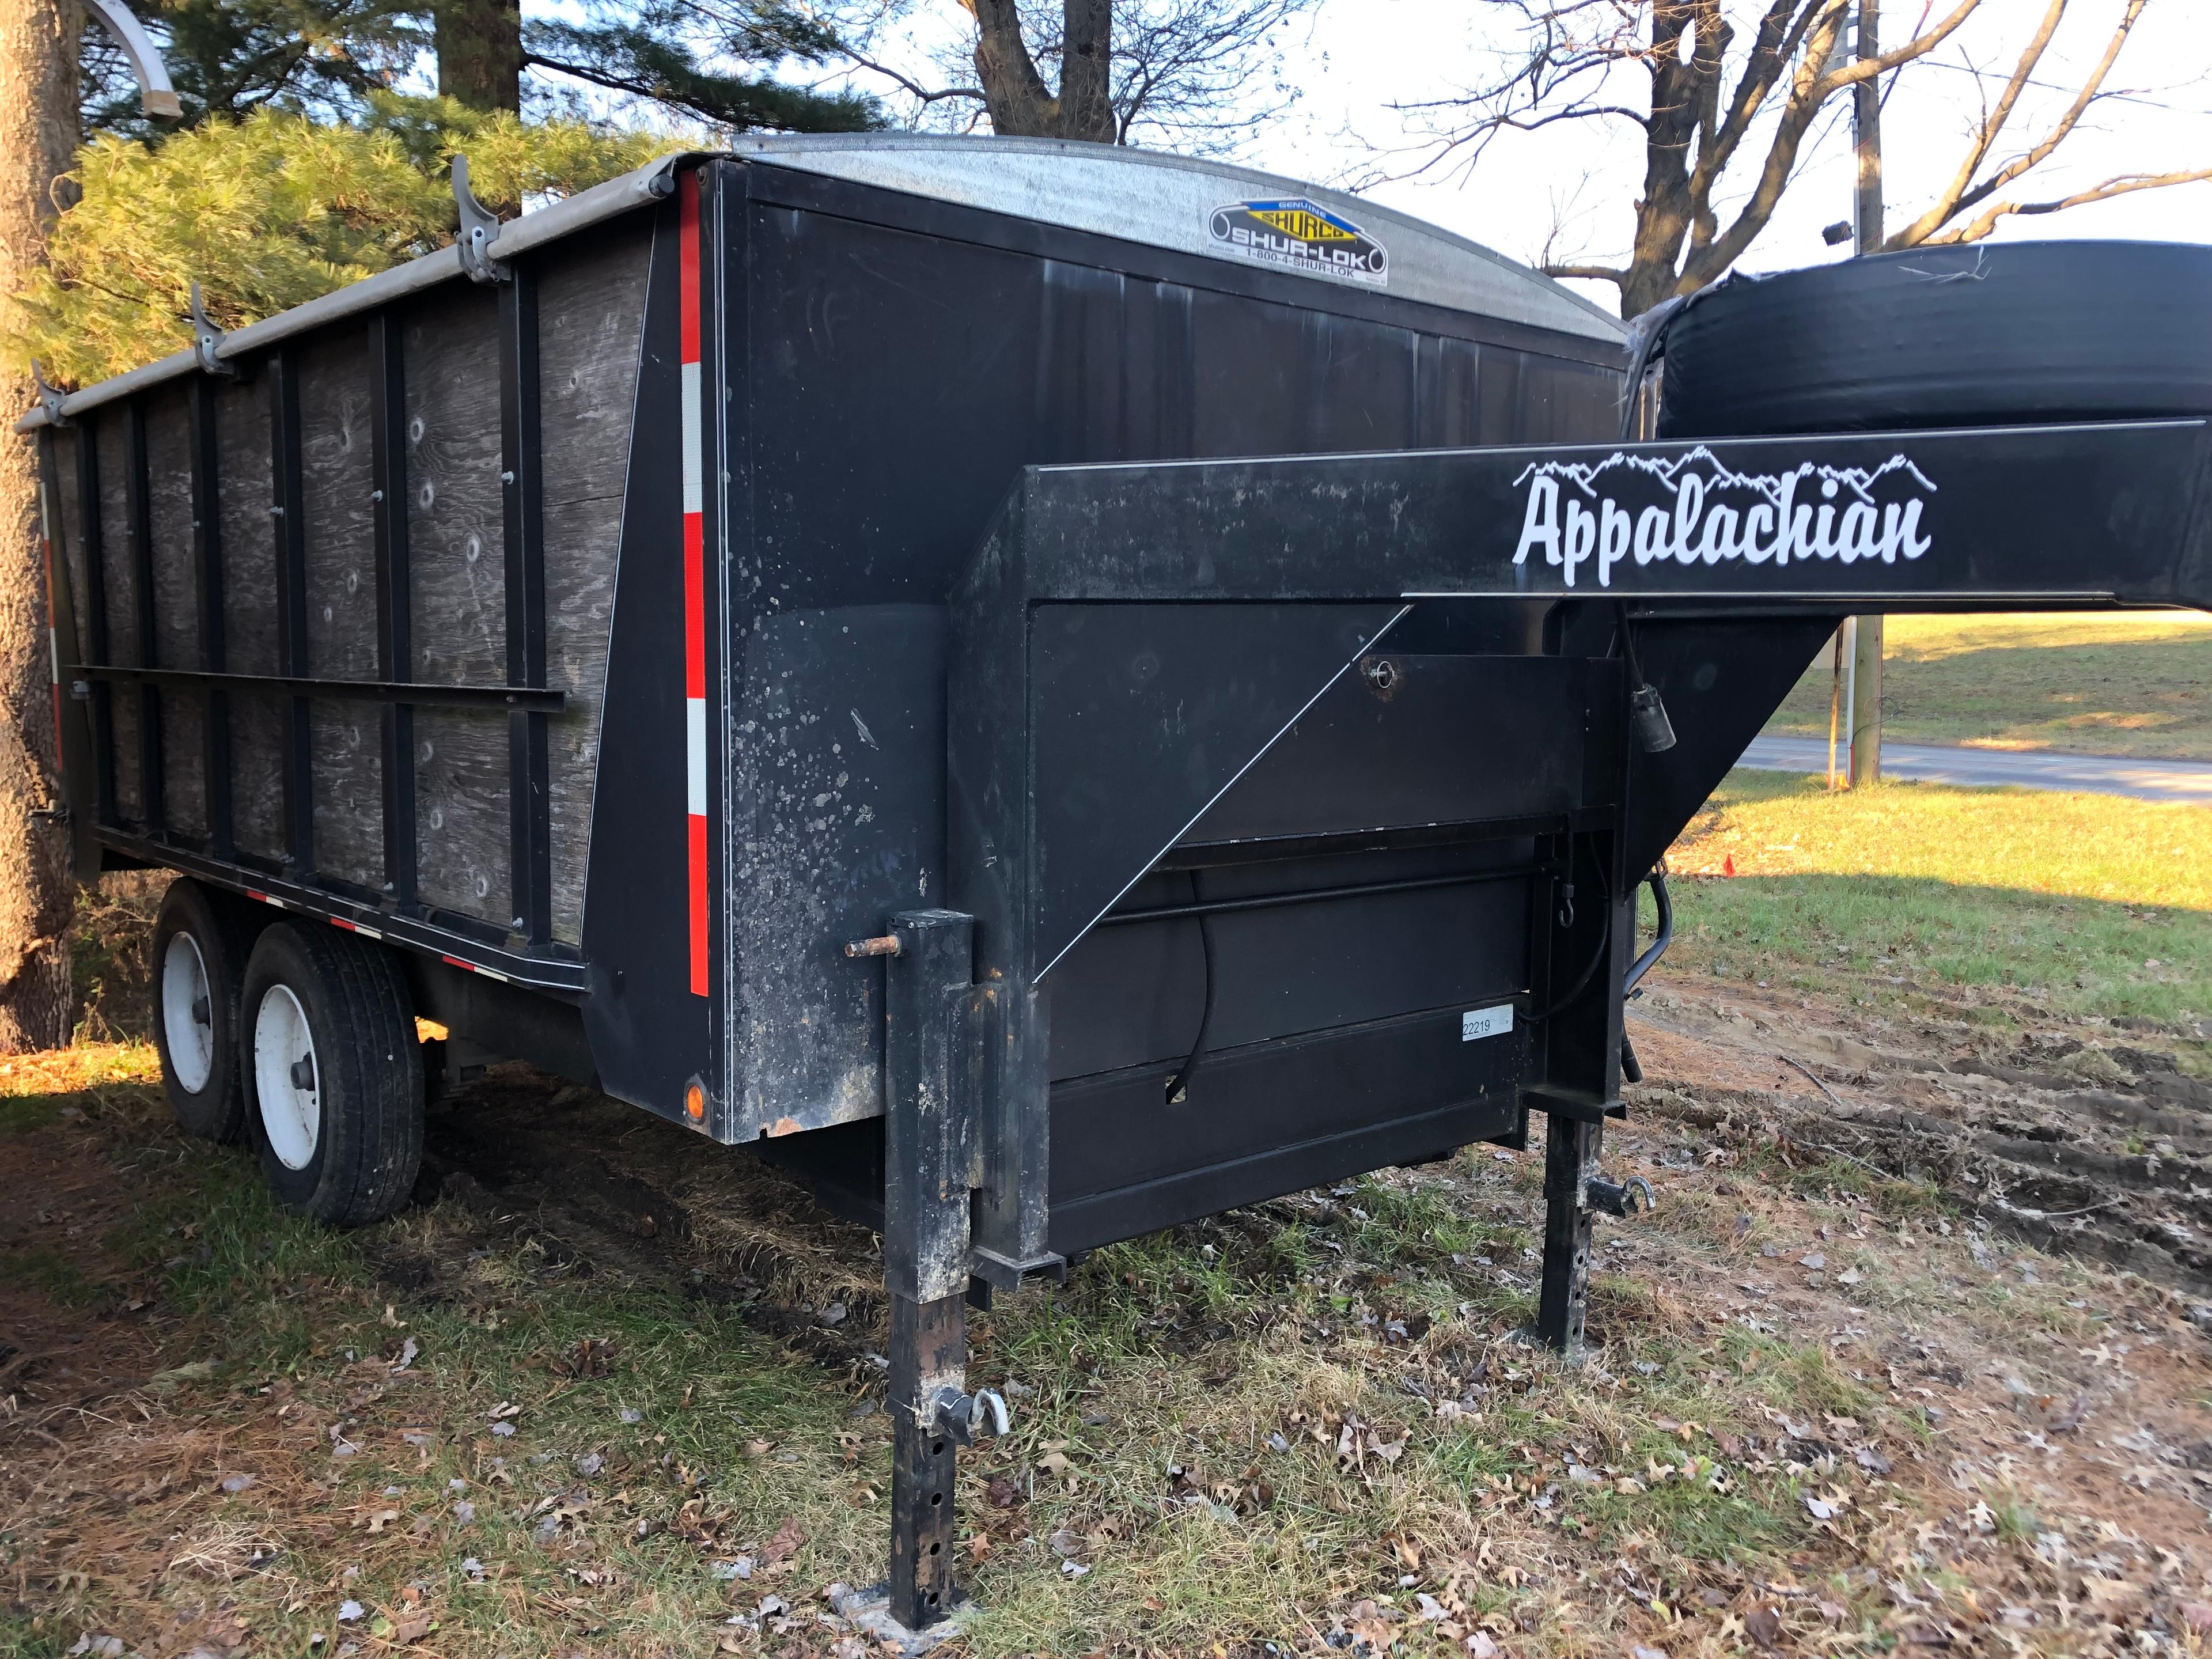
<instances>
[{"instance_id":1,"label":"sunlit grass strip on the far side of the road","mask_svg":"<svg viewBox=\"0 0 2212 1659\"><path fill-rule=\"evenodd\" d=\"M1832 650L1770 732L1827 737ZM1900 743L2212 761L2212 617L1889 617L1882 730Z\"/></svg>"}]
</instances>

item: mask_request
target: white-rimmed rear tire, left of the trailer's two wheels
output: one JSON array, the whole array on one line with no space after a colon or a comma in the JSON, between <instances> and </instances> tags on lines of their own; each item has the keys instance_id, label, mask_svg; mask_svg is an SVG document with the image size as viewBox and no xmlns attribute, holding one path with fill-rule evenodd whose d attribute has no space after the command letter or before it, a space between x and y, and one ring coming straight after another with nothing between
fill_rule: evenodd
<instances>
[{"instance_id":1,"label":"white-rimmed rear tire, left of the trailer's two wheels","mask_svg":"<svg viewBox=\"0 0 2212 1659\"><path fill-rule=\"evenodd\" d=\"M257 907L179 876L153 925L153 1042L177 1126L217 1144L246 1130L239 1088L239 987Z\"/></svg>"}]
</instances>

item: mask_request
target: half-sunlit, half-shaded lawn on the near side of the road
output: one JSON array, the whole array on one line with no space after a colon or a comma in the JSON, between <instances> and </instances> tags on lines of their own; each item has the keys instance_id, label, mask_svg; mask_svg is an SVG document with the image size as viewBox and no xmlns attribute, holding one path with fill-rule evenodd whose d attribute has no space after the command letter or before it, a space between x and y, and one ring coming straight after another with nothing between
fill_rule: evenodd
<instances>
[{"instance_id":1,"label":"half-sunlit, half-shaded lawn on the near side of the road","mask_svg":"<svg viewBox=\"0 0 2212 1659\"><path fill-rule=\"evenodd\" d=\"M1940 982L2161 1022L2212 1013L2203 807L1933 783L1829 794L1739 770L1670 863L1690 876L1674 887L1679 960L1719 978Z\"/></svg>"}]
</instances>

